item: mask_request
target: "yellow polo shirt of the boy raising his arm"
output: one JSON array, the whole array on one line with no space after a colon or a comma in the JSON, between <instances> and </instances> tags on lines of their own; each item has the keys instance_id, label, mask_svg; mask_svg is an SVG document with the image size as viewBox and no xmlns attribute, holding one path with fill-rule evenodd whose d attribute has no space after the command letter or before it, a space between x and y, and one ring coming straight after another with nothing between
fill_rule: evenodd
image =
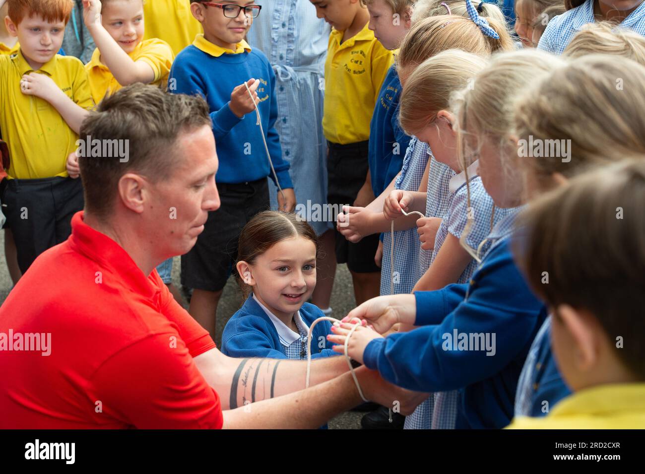
<instances>
[{"instance_id":1,"label":"yellow polo shirt of the boy raising his arm","mask_svg":"<svg viewBox=\"0 0 645 474\"><path fill-rule=\"evenodd\" d=\"M137 47L131 53L128 53L128 56L132 58L132 61L144 61L144 63L150 64L155 73L155 79L150 84L166 90L170 66L172 66L172 60L175 59L168 43L157 38L144 39L144 41L137 44ZM108 91L110 94L114 94L122 87L114 78L108 66L101 63L99 48L94 50L92 59L85 64L85 69L90 77L92 98L97 104L101 102Z\"/></svg>"}]
</instances>

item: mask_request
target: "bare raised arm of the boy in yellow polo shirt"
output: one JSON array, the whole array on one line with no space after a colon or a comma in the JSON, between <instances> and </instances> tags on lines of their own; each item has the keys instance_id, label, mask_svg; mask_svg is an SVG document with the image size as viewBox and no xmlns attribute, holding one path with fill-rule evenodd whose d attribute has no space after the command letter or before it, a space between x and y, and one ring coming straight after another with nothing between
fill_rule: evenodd
<instances>
[{"instance_id":1,"label":"bare raised arm of the boy in yellow polo shirt","mask_svg":"<svg viewBox=\"0 0 645 474\"><path fill-rule=\"evenodd\" d=\"M83 0L83 17L85 26L101 52L101 61L108 66L119 84L122 86L134 83L149 84L155 80L152 66L145 61L133 61L103 27L100 0Z\"/></svg>"}]
</instances>

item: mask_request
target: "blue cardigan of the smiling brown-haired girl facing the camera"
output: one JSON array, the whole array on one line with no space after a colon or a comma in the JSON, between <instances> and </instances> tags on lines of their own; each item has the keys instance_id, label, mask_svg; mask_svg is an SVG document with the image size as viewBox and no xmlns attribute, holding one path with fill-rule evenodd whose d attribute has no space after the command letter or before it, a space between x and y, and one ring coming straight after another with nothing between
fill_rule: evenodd
<instances>
[{"instance_id":1,"label":"blue cardigan of the smiling brown-haired girl facing the camera","mask_svg":"<svg viewBox=\"0 0 645 474\"><path fill-rule=\"evenodd\" d=\"M317 306L304 303L300 308L300 316L307 326L311 326L315 319L324 314ZM312 359L337 355L332 351L332 342L327 341L327 335L331 333L331 322L321 321L315 325L312 333ZM324 341L323 348L319 344L321 341ZM253 299L253 295L249 295L244 306L226 323L222 334L221 351L229 357L288 359L273 321Z\"/></svg>"}]
</instances>

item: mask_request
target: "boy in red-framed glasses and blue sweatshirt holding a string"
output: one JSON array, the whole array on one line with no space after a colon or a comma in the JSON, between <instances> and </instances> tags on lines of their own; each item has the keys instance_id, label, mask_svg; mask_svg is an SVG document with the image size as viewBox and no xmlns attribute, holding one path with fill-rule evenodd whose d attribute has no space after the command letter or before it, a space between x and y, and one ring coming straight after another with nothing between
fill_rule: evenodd
<instances>
[{"instance_id":1,"label":"boy in red-framed glasses and blue sweatshirt holding a string","mask_svg":"<svg viewBox=\"0 0 645 474\"><path fill-rule=\"evenodd\" d=\"M201 94L208 102L219 157L215 181L221 208L208 214L204 232L182 255L181 282L194 288L190 314L214 336L217 303L235 261L239 234L246 222L270 206L266 178L282 188L277 193L280 210L293 211L295 194L275 130L275 73L263 52L244 40L261 6L253 0L192 1L190 11L204 34L177 55L168 90Z\"/></svg>"}]
</instances>

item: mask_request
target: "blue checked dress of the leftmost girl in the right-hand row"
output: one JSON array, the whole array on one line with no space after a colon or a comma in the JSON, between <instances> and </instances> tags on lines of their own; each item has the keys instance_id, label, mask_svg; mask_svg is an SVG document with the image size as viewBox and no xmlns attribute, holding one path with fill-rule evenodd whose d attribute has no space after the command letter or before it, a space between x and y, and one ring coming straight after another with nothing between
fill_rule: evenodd
<instances>
[{"instance_id":1,"label":"blue checked dress of the leftmost girl in the right-hand row","mask_svg":"<svg viewBox=\"0 0 645 474\"><path fill-rule=\"evenodd\" d=\"M428 144L413 136L408 144L401 174L394 183L395 189L417 191L428 164ZM417 228L394 232L394 293L410 293L417 282L419 264L419 234ZM390 252L392 232L383 233L383 259L381 263L381 295L389 295L392 290L390 278Z\"/></svg>"}]
</instances>

